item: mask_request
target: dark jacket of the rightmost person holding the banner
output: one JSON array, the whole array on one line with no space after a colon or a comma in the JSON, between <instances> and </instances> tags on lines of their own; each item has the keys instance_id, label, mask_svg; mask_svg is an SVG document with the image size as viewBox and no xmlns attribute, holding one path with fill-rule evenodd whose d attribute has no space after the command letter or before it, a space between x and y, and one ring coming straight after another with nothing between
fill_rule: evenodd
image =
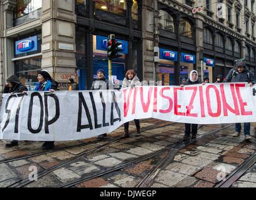
<instances>
[{"instance_id":1,"label":"dark jacket of the rightmost person holding the banner","mask_svg":"<svg viewBox=\"0 0 256 200\"><path fill-rule=\"evenodd\" d=\"M245 67L242 73L238 73L237 69L231 69L223 82L247 82L256 84L256 79L253 73Z\"/></svg>"}]
</instances>

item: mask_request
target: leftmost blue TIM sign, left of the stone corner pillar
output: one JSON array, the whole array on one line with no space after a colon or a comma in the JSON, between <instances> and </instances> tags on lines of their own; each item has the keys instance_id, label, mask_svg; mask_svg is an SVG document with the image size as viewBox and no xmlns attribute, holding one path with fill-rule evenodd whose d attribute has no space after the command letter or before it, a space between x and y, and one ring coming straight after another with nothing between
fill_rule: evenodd
<instances>
[{"instance_id":1,"label":"leftmost blue TIM sign, left of the stone corner pillar","mask_svg":"<svg viewBox=\"0 0 256 200\"><path fill-rule=\"evenodd\" d=\"M23 54L31 51L38 50L38 39L37 36L28 37L26 39L15 42L15 54Z\"/></svg>"}]
</instances>

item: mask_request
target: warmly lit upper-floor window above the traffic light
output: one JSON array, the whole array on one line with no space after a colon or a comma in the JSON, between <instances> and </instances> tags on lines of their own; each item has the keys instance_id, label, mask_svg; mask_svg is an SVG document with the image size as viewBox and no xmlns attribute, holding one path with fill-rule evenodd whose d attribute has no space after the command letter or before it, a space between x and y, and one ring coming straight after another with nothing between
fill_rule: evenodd
<instances>
[{"instance_id":1,"label":"warmly lit upper-floor window above the traffic light","mask_svg":"<svg viewBox=\"0 0 256 200\"><path fill-rule=\"evenodd\" d=\"M112 12L120 16L126 15L126 0L93 0L95 2L95 9Z\"/></svg>"}]
</instances>

